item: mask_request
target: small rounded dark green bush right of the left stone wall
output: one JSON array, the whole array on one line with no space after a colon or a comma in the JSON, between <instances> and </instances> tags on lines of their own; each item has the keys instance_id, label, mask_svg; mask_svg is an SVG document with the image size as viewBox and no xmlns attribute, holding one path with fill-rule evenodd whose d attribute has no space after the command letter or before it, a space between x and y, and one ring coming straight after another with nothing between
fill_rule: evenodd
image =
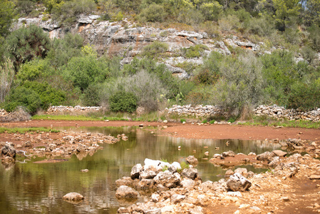
<instances>
[{"instance_id":1,"label":"small rounded dark green bush right of the left stone wall","mask_svg":"<svg viewBox=\"0 0 320 214\"><path fill-rule=\"evenodd\" d=\"M137 98L133 93L118 91L109 99L111 111L133 113L137 109Z\"/></svg>"}]
</instances>

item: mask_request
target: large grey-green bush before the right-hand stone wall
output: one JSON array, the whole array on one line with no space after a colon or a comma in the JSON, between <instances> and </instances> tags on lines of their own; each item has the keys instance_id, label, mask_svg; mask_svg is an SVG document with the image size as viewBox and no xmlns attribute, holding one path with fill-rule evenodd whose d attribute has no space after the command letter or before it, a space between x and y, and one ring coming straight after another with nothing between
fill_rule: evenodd
<instances>
[{"instance_id":1,"label":"large grey-green bush before the right-hand stone wall","mask_svg":"<svg viewBox=\"0 0 320 214\"><path fill-rule=\"evenodd\" d=\"M237 116L244 108L262 102L262 63L253 54L239 58L227 56L220 72L221 78L215 85L215 104Z\"/></svg>"}]
</instances>

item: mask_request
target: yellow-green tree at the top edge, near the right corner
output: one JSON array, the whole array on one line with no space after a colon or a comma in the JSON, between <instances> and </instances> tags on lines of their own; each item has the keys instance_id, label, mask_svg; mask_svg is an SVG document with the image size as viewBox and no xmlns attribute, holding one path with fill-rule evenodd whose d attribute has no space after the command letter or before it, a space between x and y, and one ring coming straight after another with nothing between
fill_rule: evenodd
<instances>
[{"instance_id":1,"label":"yellow-green tree at the top edge, near the right corner","mask_svg":"<svg viewBox=\"0 0 320 214\"><path fill-rule=\"evenodd\" d=\"M299 0L272 0L276 9L276 21L282 25L281 30L285 31L286 24L291 16L299 15L301 4Z\"/></svg>"}]
</instances>

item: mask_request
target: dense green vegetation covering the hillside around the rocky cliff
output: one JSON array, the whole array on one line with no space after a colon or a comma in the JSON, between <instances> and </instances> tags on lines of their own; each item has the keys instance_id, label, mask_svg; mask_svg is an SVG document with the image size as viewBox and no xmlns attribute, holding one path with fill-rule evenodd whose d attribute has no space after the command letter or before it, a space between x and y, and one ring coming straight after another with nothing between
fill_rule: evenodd
<instances>
[{"instance_id":1,"label":"dense green vegetation covering the hillside around the rocky cliff","mask_svg":"<svg viewBox=\"0 0 320 214\"><path fill-rule=\"evenodd\" d=\"M137 106L155 111L201 103L239 115L261 103L304 111L320 107L319 0L0 1L0 106L7 111L25 106L34 114L50 105L102 105L133 112ZM192 78L179 81L157 63L168 49L161 42L121 66L123 56L98 56L78 35L50 40L33 25L10 31L19 16L43 14L43 20L71 26L79 14L89 13L102 20L128 18L138 26L206 31L217 40L237 35L277 50L264 55L232 47L229 56L212 52L201 66L180 64ZM176 54L195 58L205 50L198 45Z\"/></svg>"}]
</instances>

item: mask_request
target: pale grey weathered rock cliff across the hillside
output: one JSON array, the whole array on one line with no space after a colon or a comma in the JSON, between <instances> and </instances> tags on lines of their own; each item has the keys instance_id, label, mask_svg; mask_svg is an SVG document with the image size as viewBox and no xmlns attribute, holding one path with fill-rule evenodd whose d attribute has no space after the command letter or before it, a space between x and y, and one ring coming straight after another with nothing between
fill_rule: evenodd
<instances>
[{"instance_id":1,"label":"pale grey weathered rock cliff across the hillside","mask_svg":"<svg viewBox=\"0 0 320 214\"><path fill-rule=\"evenodd\" d=\"M178 63L193 63L195 65L202 63L202 58L211 51L219 51L222 54L231 54L229 49L240 47L259 51L262 54L270 51L264 50L264 44L253 44L248 40L240 40L237 36L230 38L222 37L221 39L208 36L205 32L195 31L178 31L177 29L159 29L149 26L138 27L126 20L120 22L100 21L100 16L90 15L81 16L77 23L70 27L63 27L60 24L51 21L43 21L43 16L37 18L18 20L14 29L23 25L36 24L43 31L47 31L50 38L62 38L68 32L80 34L85 39L85 44L94 45L98 54L107 54L109 56L123 56L122 63L130 63L134 56L140 54L143 47L151 44L153 41L165 42L169 49L167 57L162 59L167 68L176 73L180 78L188 78L188 74L177 67ZM200 57L185 58L180 53L182 48L190 48L197 44L207 46L207 50ZM228 48L229 47L229 48Z\"/></svg>"}]
</instances>

